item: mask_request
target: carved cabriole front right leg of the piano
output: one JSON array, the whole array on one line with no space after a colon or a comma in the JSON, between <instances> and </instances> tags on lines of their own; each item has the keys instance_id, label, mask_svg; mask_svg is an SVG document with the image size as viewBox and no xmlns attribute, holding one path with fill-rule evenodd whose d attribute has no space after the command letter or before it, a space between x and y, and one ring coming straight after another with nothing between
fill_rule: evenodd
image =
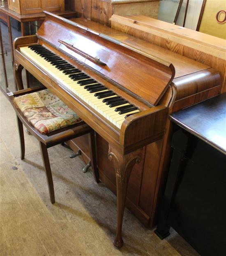
<instances>
[{"instance_id":1,"label":"carved cabriole front right leg of the piano","mask_svg":"<svg viewBox=\"0 0 226 256\"><path fill-rule=\"evenodd\" d=\"M122 155L109 145L108 159L113 161L117 186L117 231L113 244L115 247L121 248L123 245L122 221L129 177L134 165L141 161L141 149Z\"/></svg>"}]
</instances>

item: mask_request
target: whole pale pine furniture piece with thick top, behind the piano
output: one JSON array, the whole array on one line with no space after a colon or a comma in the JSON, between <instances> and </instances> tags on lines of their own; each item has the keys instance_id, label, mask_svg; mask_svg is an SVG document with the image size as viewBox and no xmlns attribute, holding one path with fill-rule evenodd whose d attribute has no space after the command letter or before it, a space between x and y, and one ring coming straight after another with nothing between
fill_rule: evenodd
<instances>
[{"instance_id":1,"label":"whole pale pine furniture piece with thick top, behind the piano","mask_svg":"<svg viewBox=\"0 0 226 256\"><path fill-rule=\"evenodd\" d=\"M226 40L143 15L111 17L112 28L216 69L226 92Z\"/></svg>"}]
</instances>

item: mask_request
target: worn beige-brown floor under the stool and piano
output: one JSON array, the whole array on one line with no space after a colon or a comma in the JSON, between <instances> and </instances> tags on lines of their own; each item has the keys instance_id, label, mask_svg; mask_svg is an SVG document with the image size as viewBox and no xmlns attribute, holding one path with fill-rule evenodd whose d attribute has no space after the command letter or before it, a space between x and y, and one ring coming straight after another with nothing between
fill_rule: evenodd
<instances>
[{"instance_id":1,"label":"worn beige-brown floor under the stool and piano","mask_svg":"<svg viewBox=\"0 0 226 256\"><path fill-rule=\"evenodd\" d=\"M20 159L16 116L0 92L1 256L198 256L175 231L161 241L125 210L125 245L113 247L116 197L79 157L55 146L48 150L56 203L49 201L37 140L25 134Z\"/></svg>"}]
</instances>

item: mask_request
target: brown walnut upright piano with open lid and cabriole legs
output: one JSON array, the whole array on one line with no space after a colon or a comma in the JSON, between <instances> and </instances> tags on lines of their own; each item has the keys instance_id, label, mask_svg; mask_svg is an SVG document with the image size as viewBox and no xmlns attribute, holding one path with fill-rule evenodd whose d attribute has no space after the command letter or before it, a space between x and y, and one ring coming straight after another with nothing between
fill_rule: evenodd
<instances>
[{"instance_id":1,"label":"brown walnut upright piano with open lid and cabriole legs","mask_svg":"<svg viewBox=\"0 0 226 256\"><path fill-rule=\"evenodd\" d=\"M96 23L89 22L95 27ZM171 62L117 40L114 38L114 33L117 34L114 30L113 36L106 35L104 30L108 28L102 27L103 32L97 32L94 28L46 13L46 20L37 35L19 37L14 41L14 67L18 88L23 87L21 69L24 67L99 134L99 175L113 191L115 184L117 187L118 219L114 245L120 248L123 244L122 219L128 184L127 206L143 223L153 224L166 176L164 165L170 158L168 141L171 133L167 116L172 112L175 100L177 108L182 108L217 95L220 91L220 77L208 66L180 55L177 61L178 55L166 52L168 60L172 58L179 67L177 74L180 76L175 78L175 66ZM122 33L118 33L120 38ZM59 39L98 58L106 65L99 65L79 55L60 44ZM47 56L60 56L63 60L59 61L65 63L62 65L70 64L72 69L76 67L136 106L139 112L121 119L120 123L114 121L108 115L108 110L101 112L99 105L92 103L93 98L86 98L87 92L77 83L73 83L71 87L67 84L69 82L62 80L62 73L42 57L37 57L28 47L32 45L42 45L48 49L51 53L45 50ZM152 45L149 47L152 48ZM161 52L163 49L155 50ZM160 55L164 56L164 53ZM98 102L102 104L102 100ZM113 113L115 116L114 111ZM105 161L107 157L112 160L113 165ZM152 203L147 205L147 201Z\"/></svg>"}]
</instances>

